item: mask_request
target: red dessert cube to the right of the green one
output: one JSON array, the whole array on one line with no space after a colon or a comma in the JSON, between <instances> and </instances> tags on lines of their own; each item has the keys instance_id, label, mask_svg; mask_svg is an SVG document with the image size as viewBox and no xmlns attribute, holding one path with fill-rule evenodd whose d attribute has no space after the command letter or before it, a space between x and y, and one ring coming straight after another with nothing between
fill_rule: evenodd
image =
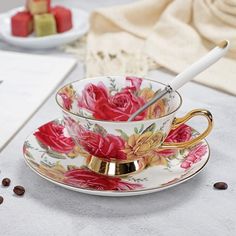
<instances>
[{"instance_id":1,"label":"red dessert cube to the right of the green one","mask_svg":"<svg viewBox=\"0 0 236 236\"><path fill-rule=\"evenodd\" d=\"M54 15L57 24L57 32L63 33L72 28L72 13L71 10L55 6L51 9L51 13Z\"/></svg>"}]
</instances>

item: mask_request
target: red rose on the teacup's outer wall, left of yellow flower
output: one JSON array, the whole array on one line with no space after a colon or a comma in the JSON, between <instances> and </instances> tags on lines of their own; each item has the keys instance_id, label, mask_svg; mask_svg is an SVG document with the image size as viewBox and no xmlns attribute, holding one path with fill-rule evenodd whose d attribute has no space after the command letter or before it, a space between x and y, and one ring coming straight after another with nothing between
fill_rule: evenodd
<instances>
[{"instance_id":1,"label":"red rose on the teacup's outer wall, left of yellow flower","mask_svg":"<svg viewBox=\"0 0 236 236\"><path fill-rule=\"evenodd\" d=\"M123 152L124 140L112 134L101 135L79 126L77 133L77 142L89 154L104 158L107 160L125 160L126 155Z\"/></svg>"}]
</instances>

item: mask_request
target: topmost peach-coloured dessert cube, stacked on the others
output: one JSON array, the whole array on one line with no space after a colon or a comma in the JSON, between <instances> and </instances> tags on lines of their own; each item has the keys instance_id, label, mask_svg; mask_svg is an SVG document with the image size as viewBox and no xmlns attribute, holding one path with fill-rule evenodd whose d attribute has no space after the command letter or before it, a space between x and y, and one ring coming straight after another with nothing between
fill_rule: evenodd
<instances>
[{"instance_id":1,"label":"topmost peach-coloured dessert cube, stacked on the others","mask_svg":"<svg viewBox=\"0 0 236 236\"><path fill-rule=\"evenodd\" d=\"M50 10L50 0L27 0L26 8L33 15L48 13Z\"/></svg>"}]
</instances>

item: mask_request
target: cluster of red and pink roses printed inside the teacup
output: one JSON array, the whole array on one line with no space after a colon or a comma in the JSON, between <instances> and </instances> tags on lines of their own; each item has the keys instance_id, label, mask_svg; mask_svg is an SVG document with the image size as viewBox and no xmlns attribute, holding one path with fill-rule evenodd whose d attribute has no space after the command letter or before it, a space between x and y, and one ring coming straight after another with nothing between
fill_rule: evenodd
<instances>
[{"instance_id":1,"label":"cluster of red and pink roses printed inside the teacup","mask_svg":"<svg viewBox=\"0 0 236 236\"><path fill-rule=\"evenodd\" d=\"M131 114L144 105L143 98L138 97L135 92L140 89L142 79L127 77L126 86L115 95L109 95L108 89L100 82L98 85L88 84L78 97L78 106L92 112L93 117L99 120L127 121ZM145 112L135 118L143 120Z\"/></svg>"}]
</instances>

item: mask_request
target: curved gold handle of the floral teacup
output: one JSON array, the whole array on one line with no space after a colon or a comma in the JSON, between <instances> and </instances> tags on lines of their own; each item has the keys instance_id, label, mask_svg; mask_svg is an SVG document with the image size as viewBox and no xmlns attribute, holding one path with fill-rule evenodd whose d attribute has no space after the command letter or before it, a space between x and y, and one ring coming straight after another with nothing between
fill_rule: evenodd
<instances>
[{"instance_id":1,"label":"curved gold handle of the floral teacup","mask_svg":"<svg viewBox=\"0 0 236 236\"><path fill-rule=\"evenodd\" d=\"M172 129L176 129L178 126L187 122L188 120L190 120L191 118L193 118L195 116L204 116L208 121L208 126L203 133L201 133L200 135L198 135L194 139L191 139L186 142L181 142L181 143L164 142L164 143L162 143L160 149L188 148L188 147L191 147L191 146L197 144L202 139L204 139L211 132L212 127L213 127L212 114L208 110L205 110L205 109L195 109L195 110L190 111L189 113L187 113L185 116L183 116L181 118L175 118L172 123Z\"/></svg>"}]
</instances>

